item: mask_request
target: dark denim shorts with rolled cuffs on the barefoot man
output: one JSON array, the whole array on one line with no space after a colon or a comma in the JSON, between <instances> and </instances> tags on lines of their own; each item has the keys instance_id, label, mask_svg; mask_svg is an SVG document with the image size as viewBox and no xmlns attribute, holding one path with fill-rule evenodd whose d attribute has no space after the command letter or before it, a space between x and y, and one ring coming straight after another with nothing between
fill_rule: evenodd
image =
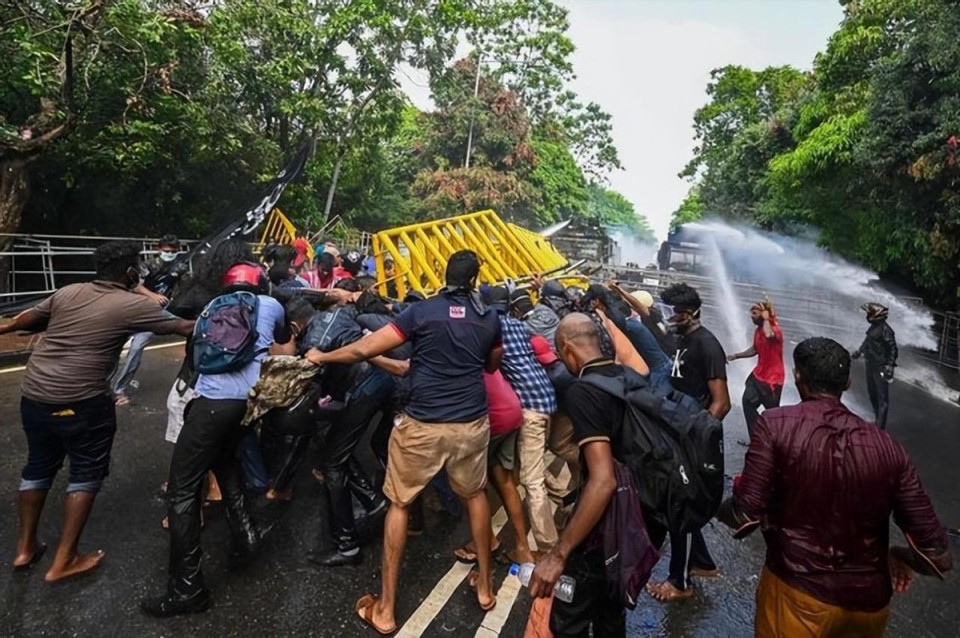
<instances>
[{"instance_id":1,"label":"dark denim shorts with rolled cuffs on the barefoot man","mask_svg":"<svg viewBox=\"0 0 960 638\"><path fill-rule=\"evenodd\" d=\"M22 397L20 417L29 452L20 490L48 490L70 459L67 492L98 492L110 473L110 450L117 431L117 411L104 395L67 404L41 403Z\"/></svg>"}]
</instances>

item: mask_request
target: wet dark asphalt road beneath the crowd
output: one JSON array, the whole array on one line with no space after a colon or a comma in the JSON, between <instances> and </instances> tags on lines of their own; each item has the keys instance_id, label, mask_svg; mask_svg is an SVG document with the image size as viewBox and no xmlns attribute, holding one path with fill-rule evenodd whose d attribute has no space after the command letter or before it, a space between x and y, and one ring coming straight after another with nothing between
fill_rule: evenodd
<instances>
[{"instance_id":1,"label":"wet dark asphalt road beneath the crowd","mask_svg":"<svg viewBox=\"0 0 960 638\"><path fill-rule=\"evenodd\" d=\"M142 390L120 411L112 473L100 494L81 549L106 550L95 573L57 585L43 582L47 556L33 570L0 569L0 635L4 636L372 636L355 620L353 606L379 586L379 529L359 567L319 570L305 553L320 534L320 489L307 467L301 470L295 499L275 529L259 561L242 573L226 568L226 527L218 505L205 510L204 569L215 607L185 618L153 620L137 609L138 600L162 590L168 541L159 522L163 503L157 496L165 480L172 446L163 440L164 401L176 372L178 348L147 353L138 375ZM732 370L745 376L748 366ZM862 370L857 369L858 374ZM0 554L12 559L16 535L16 495L25 458L20 430L18 386L21 373L0 375ZM857 380L859 381L859 376ZM855 385L850 404L866 401ZM791 393L785 393L789 401ZM739 397L733 397L739 403ZM960 526L960 408L932 399L904 383L892 387L890 430L913 455L944 524ZM738 445L745 429L738 408L726 422L728 473L742 465ZM311 454L316 454L312 450ZM314 457L315 458L315 457ZM305 466L309 466L307 463ZM65 473L58 478L41 522L41 538L53 544L59 532ZM401 573L398 619L409 617L454 565L452 551L466 540L465 521L429 513L427 533L411 538ZM707 541L723 572L699 584L693 600L662 606L642 598L629 616L632 636L747 636L752 634L753 592L763 559L759 535L743 542L719 528L706 530ZM894 538L899 539L899 533ZM900 542L897 540L896 542ZM509 544L509 541L508 541ZM960 566L960 546L955 545ZM666 560L655 571L663 577ZM497 583L506 567L498 566ZM897 596L888 635L960 635L960 578L946 582L918 579L910 592ZM424 636L474 636L483 620L472 592L461 583L445 602ZM530 601L521 591L501 635L521 636Z\"/></svg>"}]
</instances>

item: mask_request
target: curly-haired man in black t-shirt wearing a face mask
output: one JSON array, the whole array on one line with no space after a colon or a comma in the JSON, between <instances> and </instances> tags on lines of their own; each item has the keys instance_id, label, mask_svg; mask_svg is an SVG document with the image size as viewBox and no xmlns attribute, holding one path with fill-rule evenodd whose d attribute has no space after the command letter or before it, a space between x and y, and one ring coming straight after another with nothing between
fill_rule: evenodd
<instances>
[{"instance_id":1,"label":"curly-haired man in black t-shirt wearing a face mask","mask_svg":"<svg viewBox=\"0 0 960 638\"><path fill-rule=\"evenodd\" d=\"M718 421L730 411L727 390L727 356L713 333L700 325L700 295L687 284L674 284L661 295L673 307L670 327L680 337L673 356L670 383L692 396ZM670 533L670 576L662 583L650 583L647 591L660 601L693 596L690 576L716 578L717 565L710 556L703 533Z\"/></svg>"}]
</instances>

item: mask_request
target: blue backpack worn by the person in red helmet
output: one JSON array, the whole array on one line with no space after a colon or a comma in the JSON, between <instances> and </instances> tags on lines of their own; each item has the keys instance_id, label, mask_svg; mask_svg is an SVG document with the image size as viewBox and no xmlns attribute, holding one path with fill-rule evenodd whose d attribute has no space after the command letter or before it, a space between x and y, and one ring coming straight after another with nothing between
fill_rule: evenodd
<instances>
[{"instance_id":1,"label":"blue backpack worn by the person in red helmet","mask_svg":"<svg viewBox=\"0 0 960 638\"><path fill-rule=\"evenodd\" d=\"M257 350L260 299L252 292L220 295L203 309L190 343L193 367L200 374L243 369L267 349Z\"/></svg>"}]
</instances>

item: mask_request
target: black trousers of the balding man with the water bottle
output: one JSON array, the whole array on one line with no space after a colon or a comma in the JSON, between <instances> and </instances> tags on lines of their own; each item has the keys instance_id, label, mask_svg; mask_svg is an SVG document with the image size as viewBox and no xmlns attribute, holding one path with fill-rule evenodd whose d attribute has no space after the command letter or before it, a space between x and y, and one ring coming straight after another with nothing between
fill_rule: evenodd
<instances>
[{"instance_id":1,"label":"black trousers of the balding man with the water bottle","mask_svg":"<svg viewBox=\"0 0 960 638\"><path fill-rule=\"evenodd\" d=\"M563 573L574 578L577 584L572 602L553 599L550 631L556 638L588 638L590 635L620 638L627 635L626 609L610 597L601 550L574 550Z\"/></svg>"}]
</instances>

